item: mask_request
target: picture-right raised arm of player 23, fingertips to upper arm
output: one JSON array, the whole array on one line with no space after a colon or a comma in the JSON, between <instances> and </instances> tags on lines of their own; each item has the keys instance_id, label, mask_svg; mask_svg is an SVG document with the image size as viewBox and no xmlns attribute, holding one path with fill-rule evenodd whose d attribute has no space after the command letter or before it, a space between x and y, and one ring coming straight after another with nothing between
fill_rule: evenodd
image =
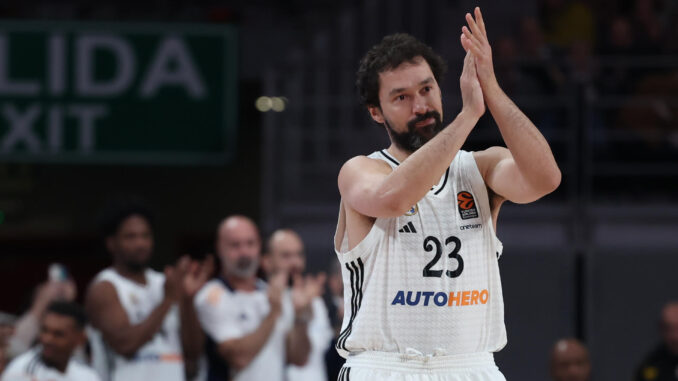
<instances>
[{"instance_id":1,"label":"picture-right raised arm of player 23, fingertips to upper arm","mask_svg":"<svg viewBox=\"0 0 678 381\"><path fill-rule=\"evenodd\" d=\"M499 87L480 8L475 9L475 20L466 14L466 21L468 27L462 28L461 43L476 57L487 107L508 147L476 153L476 162L485 183L495 193L517 203L532 202L558 187L561 179L558 164L544 136Z\"/></svg>"}]
</instances>

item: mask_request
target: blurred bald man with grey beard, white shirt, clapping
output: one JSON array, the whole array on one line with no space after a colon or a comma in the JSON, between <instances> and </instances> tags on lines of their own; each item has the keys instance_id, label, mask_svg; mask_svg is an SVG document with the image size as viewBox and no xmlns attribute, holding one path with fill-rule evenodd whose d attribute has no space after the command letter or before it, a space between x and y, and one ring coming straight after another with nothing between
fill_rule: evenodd
<instances>
[{"instance_id":1,"label":"blurred bald man with grey beard, white shirt, clapping","mask_svg":"<svg viewBox=\"0 0 678 381\"><path fill-rule=\"evenodd\" d=\"M216 249L220 277L195 301L209 339L209 380L283 380L287 363L308 360L307 319L317 286L297 279L290 293L286 273L272 275L268 284L258 279L261 238L247 217L232 216L219 225Z\"/></svg>"}]
</instances>

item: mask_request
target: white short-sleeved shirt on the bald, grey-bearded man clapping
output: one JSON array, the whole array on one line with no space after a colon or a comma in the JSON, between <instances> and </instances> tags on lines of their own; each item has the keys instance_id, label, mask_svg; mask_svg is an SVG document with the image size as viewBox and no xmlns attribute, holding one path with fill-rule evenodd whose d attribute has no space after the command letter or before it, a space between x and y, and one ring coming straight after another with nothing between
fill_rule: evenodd
<instances>
[{"instance_id":1,"label":"white short-sleeved shirt on the bald, grey-bearded man clapping","mask_svg":"<svg viewBox=\"0 0 678 381\"><path fill-rule=\"evenodd\" d=\"M195 297L195 308L207 335L214 342L222 343L254 332L270 311L266 288L261 280L252 292L232 290L221 279L205 284ZM293 323L292 300L289 293L285 293L282 314L268 341L245 369L232 373L233 381L283 381L286 337Z\"/></svg>"}]
</instances>

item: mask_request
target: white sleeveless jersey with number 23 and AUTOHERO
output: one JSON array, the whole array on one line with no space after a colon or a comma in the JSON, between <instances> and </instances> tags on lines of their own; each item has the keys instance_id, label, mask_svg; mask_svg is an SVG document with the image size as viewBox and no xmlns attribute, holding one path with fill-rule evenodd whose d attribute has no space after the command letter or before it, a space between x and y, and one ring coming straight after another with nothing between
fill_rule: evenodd
<instances>
[{"instance_id":1,"label":"white sleeveless jersey with number 23 and AUTOHERO","mask_svg":"<svg viewBox=\"0 0 678 381\"><path fill-rule=\"evenodd\" d=\"M386 150L369 157L398 166ZM350 251L342 211L335 242L344 280L342 356L454 355L495 352L506 344L497 263L502 245L471 152L459 151L406 214L377 218Z\"/></svg>"}]
</instances>

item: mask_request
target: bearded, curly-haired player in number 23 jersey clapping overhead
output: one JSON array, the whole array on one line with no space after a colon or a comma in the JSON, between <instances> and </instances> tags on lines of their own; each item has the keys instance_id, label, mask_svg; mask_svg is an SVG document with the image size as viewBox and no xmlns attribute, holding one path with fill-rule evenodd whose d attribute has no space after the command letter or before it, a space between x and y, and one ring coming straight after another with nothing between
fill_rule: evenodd
<instances>
[{"instance_id":1,"label":"bearded, curly-haired player in number 23 jersey clapping overhead","mask_svg":"<svg viewBox=\"0 0 678 381\"><path fill-rule=\"evenodd\" d=\"M504 380L492 356L506 344L499 207L552 192L560 171L497 83L480 10L466 20L463 107L447 126L445 64L429 47L391 35L360 63L360 94L391 145L339 173L340 380ZM460 150L485 104L507 148Z\"/></svg>"}]
</instances>

